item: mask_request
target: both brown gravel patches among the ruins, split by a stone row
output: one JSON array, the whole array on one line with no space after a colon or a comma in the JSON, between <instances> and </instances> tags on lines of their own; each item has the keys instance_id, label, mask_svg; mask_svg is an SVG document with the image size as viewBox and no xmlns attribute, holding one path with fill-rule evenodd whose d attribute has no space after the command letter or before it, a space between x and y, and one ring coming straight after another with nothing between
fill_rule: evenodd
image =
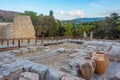
<instances>
[{"instance_id":1,"label":"both brown gravel patches among the ruins, split by a stone row","mask_svg":"<svg viewBox=\"0 0 120 80\"><path fill-rule=\"evenodd\" d=\"M58 45L49 45L49 46L45 46L45 48L41 49L40 51L20 54L20 55L17 55L17 57L25 58L25 57L41 56L44 54L49 54L50 50L57 50L59 48L65 48L65 49L69 49L69 50L73 51L74 49L78 48L79 46L80 46L80 44L67 43L67 42L63 43L63 44L58 44ZM47 50L49 50L49 51L47 51ZM52 57L34 60L33 62L41 63L46 66L52 67L52 68L58 68L58 67L62 66L64 63L66 63L67 61L69 61L70 59L71 58L69 57L69 54L63 52L63 53L60 53L60 54L52 56Z\"/></svg>"}]
</instances>

